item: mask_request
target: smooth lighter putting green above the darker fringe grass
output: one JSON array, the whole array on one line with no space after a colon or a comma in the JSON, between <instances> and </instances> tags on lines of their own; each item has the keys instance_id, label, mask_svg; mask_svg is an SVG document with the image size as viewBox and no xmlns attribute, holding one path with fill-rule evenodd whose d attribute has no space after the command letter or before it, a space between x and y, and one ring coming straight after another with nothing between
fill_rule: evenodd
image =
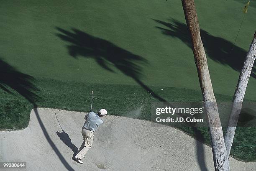
<instances>
[{"instance_id":1,"label":"smooth lighter putting green above the darker fringe grass","mask_svg":"<svg viewBox=\"0 0 256 171\"><path fill-rule=\"evenodd\" d=\"M214 91L233 95L239 65L255 31L254 2L231 55L243 4L222 0L195 3L205 31L202 36ZM189 39L183 34L186 26L180 0L22 0L3 2L0 9L4 23L0 26L0 56L23 73L106 84L138 84L136 77L149 86L200 90ZM57 34L66 36L65 40ZM67 46L73 46L73 52ZM251 77L248 99L255 100L254 84L256 79Z\"/></svg>"}]
</instances>

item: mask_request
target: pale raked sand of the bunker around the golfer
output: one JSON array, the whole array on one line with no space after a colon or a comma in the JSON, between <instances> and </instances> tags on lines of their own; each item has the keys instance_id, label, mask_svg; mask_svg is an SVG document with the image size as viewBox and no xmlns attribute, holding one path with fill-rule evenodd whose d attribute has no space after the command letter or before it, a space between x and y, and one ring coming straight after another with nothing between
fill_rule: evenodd
<instances>
[{"instance_id":1,"label":"pale raked sand of the bunker around the golfer","mask_svg":"<svg viewBox=\"0 0 256 171\"><path fill-rule=\"evenodd\" d=\"M171 127L152 127L148 121L110 115L102 118L104 123L95 132L92 148L82 159L84 164L79 164L72 160L72 149L82 143L86 113L46 108L37 111L40 122L32 110L28 128L0 131L0 161L27 162L27 169L22 170L29 171L214 170L211 148L189 135ZM67 133L62 140L70 148L56 134L62 130L55 113ZM230 158L230 168L255 171L256 163Z\"/></svg>"}]
</instances>

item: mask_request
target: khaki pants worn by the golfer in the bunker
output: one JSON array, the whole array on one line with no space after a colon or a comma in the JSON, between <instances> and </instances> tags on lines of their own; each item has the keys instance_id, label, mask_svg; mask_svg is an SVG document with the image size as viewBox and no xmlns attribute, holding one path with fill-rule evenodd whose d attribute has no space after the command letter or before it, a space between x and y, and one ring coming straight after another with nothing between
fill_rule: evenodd
<instances>
[{"instance_id":1,"label":"khaki pants worn by the golfer in the bunker","mask_svg":"<svg viewBox=\"0 0 256 171\"><path fill-rule=\"evenodd\" d=\"M94 132L90 130L86 130L84 127L82 128L82 135L84 138L84 142L82 143L81 147L83 148L77 153L78 158L82 158L88 150L92 147L92 142L93 142L93 135Z\"/></svg>"}]
</instances>

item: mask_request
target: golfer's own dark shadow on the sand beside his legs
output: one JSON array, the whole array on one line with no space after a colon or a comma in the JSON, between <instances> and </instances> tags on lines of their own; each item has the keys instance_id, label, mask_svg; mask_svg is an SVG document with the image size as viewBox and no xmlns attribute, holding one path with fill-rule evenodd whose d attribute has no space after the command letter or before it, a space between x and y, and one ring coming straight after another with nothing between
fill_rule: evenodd
<instances>
[{"instance_id":1,"label":"golfer's own dark shadow on the sand beside his legs","mask_svg":"<svg viewBox=\"0 0 256 171\"><path fill-rule=\"evenodd\" d=\"M62 130L62 133L57 131L56 134L58 135L60 140L73 151L74 154L72 158L74 158L77 152L80 151L84 146L83 142L80 148L78 149L77 146L72 143L71 139L69 138L69 135L64 130Z\"/></svg>"}]
</instances>

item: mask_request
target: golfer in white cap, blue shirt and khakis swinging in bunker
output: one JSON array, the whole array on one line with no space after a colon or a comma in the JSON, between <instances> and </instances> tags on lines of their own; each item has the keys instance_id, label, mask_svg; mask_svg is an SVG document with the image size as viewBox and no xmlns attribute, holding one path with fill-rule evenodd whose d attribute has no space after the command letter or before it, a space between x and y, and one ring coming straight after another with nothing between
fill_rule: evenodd
<instances>
[{"instance_id":1,"label":"golfer in white cap, blue shirt and khakis swinging in bunker","mask_svg":"<svg viewBox=\"0 0 256 171\"><path fill-rule=\"evenodd\" d=\"M97 114L95 112L90 112L85 115L85 123L82 128L82 135L84 138L82 146L84 146L84 148L82 148L81 151L79 151L75 156L75 159L78 163L83 164L81 158L84 158L84 155L92 147L94 131L98 126L100 126L100 124L103 123L100 117L107 115L107 113L107 110L101 109Z\"/></svg>"}]
</instances>

